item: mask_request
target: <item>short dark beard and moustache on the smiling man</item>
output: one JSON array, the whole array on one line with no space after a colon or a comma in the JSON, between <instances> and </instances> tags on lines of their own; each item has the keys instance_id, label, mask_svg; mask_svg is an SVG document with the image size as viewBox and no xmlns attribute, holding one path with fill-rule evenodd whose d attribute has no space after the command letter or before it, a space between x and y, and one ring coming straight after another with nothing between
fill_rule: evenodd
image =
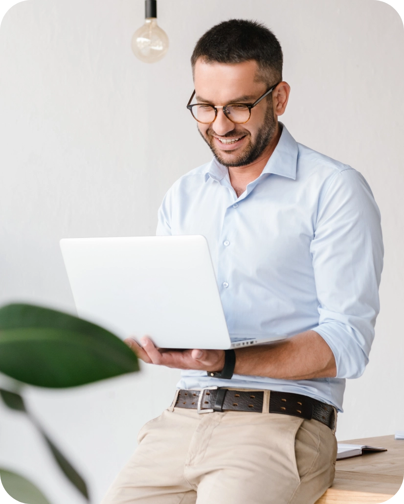
<instances>
[{"instance_id":1,"label":"short dark beard and moustache on the smiling man","mask_svg":"<svg viewBox=\"0 0 404 504\"><path fill-rule=\"evenodd\" d=\"M271 103L272 105L272 103ZM234 159L232 162L226 161L218 151L218 149L215 146L214 143L214 136L213 136L213 129L209 128L206 132L206 136L203 135L199 128L198 132L200 136L205 140L205 142L209 145L213 155L215 158L219 161L220 164L223 166L246 166L248 164L253 163L256 159L259 158L259 156L262 154L262 152L265 150L267 145L271 142L271 140L274 138L275 133L276 133L276 127L277 123L274 117L274 110L273 107L268 107L268 109L265 112L264 120L262 123L262 126L259 128L255 139L251 139L251 133L243 130L243 131L238 131L237 130L238 124L234 125L234 130L228 132L226 135L224 135L222 138L235 138L237 136L243 137L243 136L249 136L249 143L247 147L239 154L239 156ZM231 152L231 151L229 151Z\"/></svg>"}]
</instances>

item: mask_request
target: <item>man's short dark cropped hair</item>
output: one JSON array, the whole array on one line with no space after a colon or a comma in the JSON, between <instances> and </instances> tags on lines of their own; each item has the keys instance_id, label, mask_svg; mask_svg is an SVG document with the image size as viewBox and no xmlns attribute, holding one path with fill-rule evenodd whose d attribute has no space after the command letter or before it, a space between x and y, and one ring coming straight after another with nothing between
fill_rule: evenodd
<instances>
[{"instance_id":1,"label":"man's short dark cropped hair","mask_svg":"<svg viewBox=\"0 0 404 504\"><path fill-rule=\"evenodd\" d=\"M282 81L281 44L273 32L258 21L230 19L215 25L195 44L191 56L192 72L198 58L207 63L241 63L254 59L258 63L260 79L274 81L267 82L268 85Z\"/></svg>"}]
</instances>

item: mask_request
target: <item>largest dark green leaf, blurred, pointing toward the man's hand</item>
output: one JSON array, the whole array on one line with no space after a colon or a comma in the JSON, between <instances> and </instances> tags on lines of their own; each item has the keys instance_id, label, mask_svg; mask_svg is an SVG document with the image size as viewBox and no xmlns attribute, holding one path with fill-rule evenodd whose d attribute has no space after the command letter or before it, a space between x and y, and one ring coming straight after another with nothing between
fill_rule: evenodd
<instances>
[{"instance_id":1,"label":"largest dark green leaf, blurred, pointing toward the man's hand","mask_svg":"<svg viewBox=\"0 0 404 504\"><path fill-rule=\"evenodd\" d=\"M77 387L138 370L133 351L95 324L30 304L0 308L0 371L20 382Z\"/></svg>"}]
</instances>

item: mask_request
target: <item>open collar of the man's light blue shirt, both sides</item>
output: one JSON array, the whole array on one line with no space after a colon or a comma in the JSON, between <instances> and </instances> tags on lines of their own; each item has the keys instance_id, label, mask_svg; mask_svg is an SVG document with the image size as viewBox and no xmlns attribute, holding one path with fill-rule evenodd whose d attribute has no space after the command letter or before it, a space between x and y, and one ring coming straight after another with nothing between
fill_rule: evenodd
<instances>
[{"instance_id":1,"label":"open collar of the man's light blue shirt, both sides","mask_svg":"<svg viewBox=\"0 0 404 504\"><path fill-rule=\"evenodd\" d=\"M282 122L280 122L280 125L282 125L281 138L260 176L264 173L274 173L275 175L281 175L295 180L298 157L297 142ZM220 164L219 161L214 158L207 166L205 182L209 177L220 182L227 174L227 167Z\"/></svg>"}]
</instances>

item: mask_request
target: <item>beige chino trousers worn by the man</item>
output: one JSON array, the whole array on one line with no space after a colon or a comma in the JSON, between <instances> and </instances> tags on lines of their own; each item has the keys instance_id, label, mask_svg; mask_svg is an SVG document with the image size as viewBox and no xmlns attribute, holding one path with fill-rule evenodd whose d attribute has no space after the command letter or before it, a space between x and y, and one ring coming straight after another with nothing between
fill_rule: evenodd
<instances>
[{"instance_id":1,"label":"beige chino trousers worn by the man","mask_svg":"<svg viewBox=\"0 0 404 504\"><path fill-rule=\"evenodd\" d=\"M334 478L336 440L317 420L169 408L101 504L314 504Z\"/></svg>"}]
</instances>

